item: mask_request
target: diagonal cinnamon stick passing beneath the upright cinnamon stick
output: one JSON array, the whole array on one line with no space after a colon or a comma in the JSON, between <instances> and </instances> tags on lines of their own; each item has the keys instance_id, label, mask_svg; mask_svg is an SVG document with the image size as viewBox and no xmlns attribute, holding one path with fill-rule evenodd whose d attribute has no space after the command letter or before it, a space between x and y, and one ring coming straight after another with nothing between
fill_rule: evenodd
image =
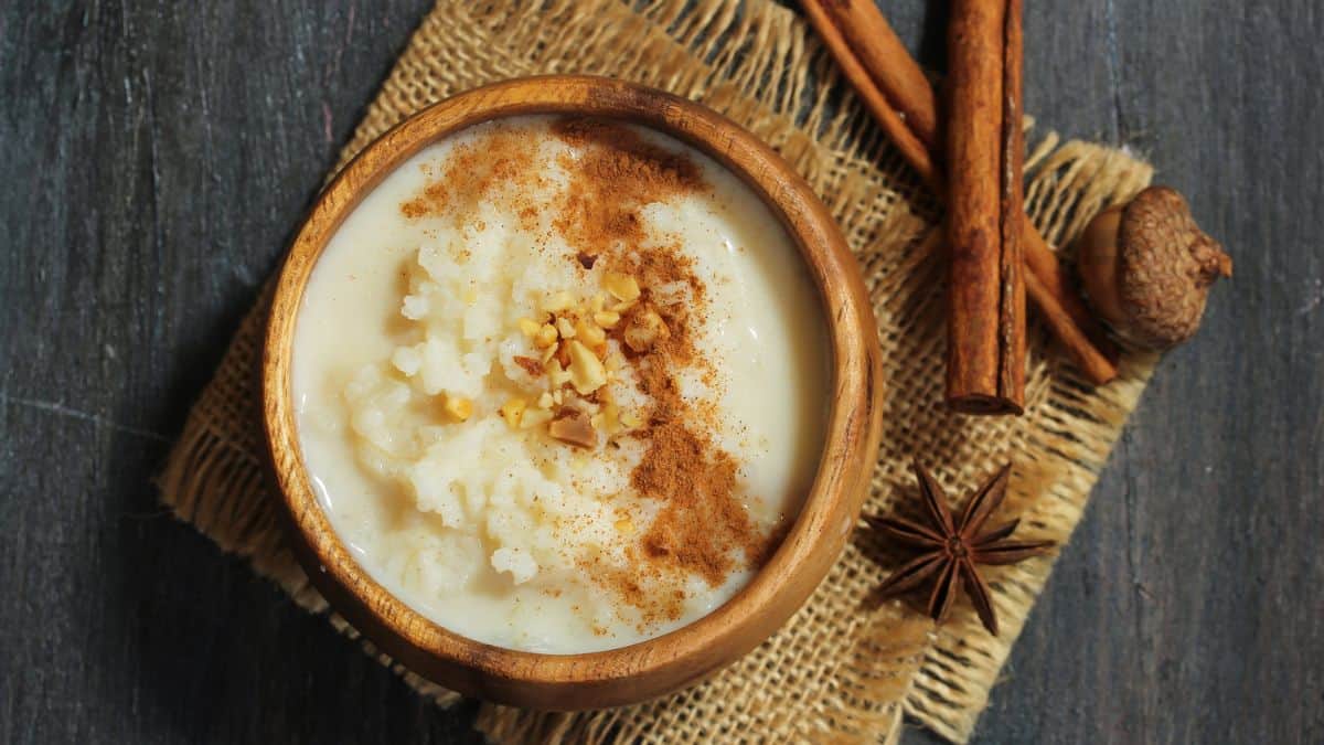
<instances>
[{"instance_id":1,"label":"diagonal cinnamon stick passing beneath the upright cinnamon stick","mask_svg":"<svg viewBox=\"0 0 1324 745\"><path fill-rule=\"evenodd\" d=\"M933 87L887 19L871 0L802 0L809 23L915 172L939 199L947 186L937 160L937 103ZM863 53L855 50L851 41ZM857 56L858 54L858 56ZM863 60L869 60L867 65ZM919 81L924 81L920 84ZM925 129L925 122L933 122ZM1095 384L1116 378L1117 350L1071 289L1057 253L1026 216L1021 225L1026 294L1049 330Z\"/></svg>"}]
</instances>

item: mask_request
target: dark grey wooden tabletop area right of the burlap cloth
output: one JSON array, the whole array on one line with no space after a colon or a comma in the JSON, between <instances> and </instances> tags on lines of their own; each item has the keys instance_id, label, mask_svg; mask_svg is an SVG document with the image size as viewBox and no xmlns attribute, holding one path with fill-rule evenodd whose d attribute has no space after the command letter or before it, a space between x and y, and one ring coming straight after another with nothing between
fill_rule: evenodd
<instances>
[{"instance_id":1,"label":"dark grey wooden tabletop area right of the burlap cloth","mask_svg":"<svg viewBox=\"0 0 1324 745\"><path fill-rule=\"evenodd\" d=\"M1083 5L1027 11L1026 110L1149 158L1237 276L1132 418L981 740L1320 742L1324 15Z\"/></svg>"}]
</instances>

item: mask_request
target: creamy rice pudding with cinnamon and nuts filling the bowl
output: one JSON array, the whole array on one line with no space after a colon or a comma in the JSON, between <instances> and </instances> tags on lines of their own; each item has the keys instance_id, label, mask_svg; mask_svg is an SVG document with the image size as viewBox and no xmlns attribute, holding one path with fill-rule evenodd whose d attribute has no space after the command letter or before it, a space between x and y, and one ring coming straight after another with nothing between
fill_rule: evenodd
<instances>
[{"instance_id":1,"label":"creamy rice pudding with cinnamon and nuts filling the bowl","mask_svg":"<svg viewBox=\"0 0 1324 745\"><path fill-rule=\"evenodd\" d=\"M299 444L373 579L463 636L622 647L730 599L817 472L830 351L786 231L642 127L519 117L391 172L294 339Z\"/></svg>"}]
</instances>

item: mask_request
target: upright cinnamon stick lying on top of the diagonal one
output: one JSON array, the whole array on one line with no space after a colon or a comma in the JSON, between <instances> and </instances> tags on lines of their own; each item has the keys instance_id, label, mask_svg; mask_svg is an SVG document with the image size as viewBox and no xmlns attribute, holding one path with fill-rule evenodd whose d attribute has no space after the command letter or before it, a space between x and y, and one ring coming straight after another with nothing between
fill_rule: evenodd
<instances>
[{"instance_id":1,"label":"upright cinnamon stick lying on top of the diagonal one","mask_svg":"<svg viewBox=\"0 0 1324 745\"><path fill-rule=\"evenodd\" d=\"M953 0L948 38L947 402L1025 410L1019 0Z\"/></svg>"}]
</instances>

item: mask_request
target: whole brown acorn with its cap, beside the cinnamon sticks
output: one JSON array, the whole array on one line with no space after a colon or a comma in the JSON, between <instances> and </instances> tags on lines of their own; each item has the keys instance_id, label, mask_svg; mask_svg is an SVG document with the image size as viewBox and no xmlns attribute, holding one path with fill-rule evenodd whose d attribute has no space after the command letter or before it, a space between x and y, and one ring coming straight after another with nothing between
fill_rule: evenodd
<instances>
[{"instance_id":1,"label":"whole brown acorn with its cap, beside the cinnamon sticks","mask_svg":"<svg viewBox=\"0 0 1324 745\"><path fill-rule=\"evenodd\" d=\"M1170 349L1200 329L1209 288L1233 276L1233 260L1168 187L1099 213L1076 245L1090 305L1123 341Z\"/></svg>"}]
</instances>

